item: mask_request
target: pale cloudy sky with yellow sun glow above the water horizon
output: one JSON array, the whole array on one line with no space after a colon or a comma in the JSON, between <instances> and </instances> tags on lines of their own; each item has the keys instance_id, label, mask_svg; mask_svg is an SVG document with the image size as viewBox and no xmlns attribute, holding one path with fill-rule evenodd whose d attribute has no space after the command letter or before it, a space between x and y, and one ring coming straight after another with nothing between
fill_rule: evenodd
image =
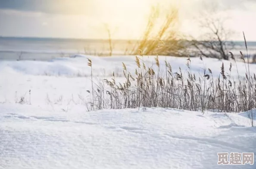
<instances>
[{"instance_id":1,"label":"pale cloudy sky with yellow sun glow above the water horizon","mask_svg":"<svg viewBox=\"0 0 256 169\"><path fill-rule=\"evenodd\" d=\"M178 8L178 31L202 37L205 14L224 19L231 40L256 41L256 0L0 0L0 36L137 39L152 5Z\"/></svg>"}]
</instances>

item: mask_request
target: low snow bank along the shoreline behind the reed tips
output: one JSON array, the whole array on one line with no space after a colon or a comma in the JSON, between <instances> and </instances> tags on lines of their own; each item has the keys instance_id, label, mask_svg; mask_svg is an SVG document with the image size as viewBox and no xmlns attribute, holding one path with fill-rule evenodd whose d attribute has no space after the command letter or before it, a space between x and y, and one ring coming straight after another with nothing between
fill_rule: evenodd
<instances>
[{"instance_id":1,"label":"low snow bank along the shoreline behind the reed tips","mask_svg":"<svg viewBox=\"0 0 256 169\"><path fill-rule=\"evenodd\" d=\"M79 54L71 55L70 58L56 58L50 61L0 61L0 73L10 68L14 72L29 75L67 77L90 76L91 70L87 66L87 58L92 60L94 76L110 76L113 71L115 71L117 75L122 76L122 62L125 63L128 71L131 73L134 73L135 68L137 68L134 56L96 57ZM144 61L145 65L149 67L151 67L152 64L155 64L153 56L140 57L140 60ZM179 67L182 72L187 70L187 58L159 56L162 74L165 73L165 60L170 63L173 72L178 71ZM225 70L228 72L230 61L223 62ZM234 65L234 61L231 61L231 63L233 64L231 74L236 76L237 70ZM208 68L210 68L213 75L217 77L219 76L221 65L222 61L219 59L203 58L203 61L201 61L199 58L191 58L191 71L195 74L198 74L199 72L203 73L203 68L206 68L206 73L209 73ZM244 64L242 62L238 62L237 66L239 74L244 75L246 72ZM256 70L256 65L251 64L250 67L251 70Z\"/></svg>"}]
</instances>

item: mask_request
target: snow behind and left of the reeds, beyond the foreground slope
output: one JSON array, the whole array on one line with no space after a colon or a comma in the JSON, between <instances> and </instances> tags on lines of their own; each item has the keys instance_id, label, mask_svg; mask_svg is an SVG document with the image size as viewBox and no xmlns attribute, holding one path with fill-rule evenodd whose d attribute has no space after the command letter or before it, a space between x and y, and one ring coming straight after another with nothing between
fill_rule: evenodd
<instances>
[{"instance_id":1,"label":"snow behind and left of the reeds, beyond the foreground slope","mask_svg":"<svg viewBox=\"0 0 256 169\"><path fill-rule=\"evenodd\" d=\"M0 61L0 102L15 103L21 97L31 104L81 104L88 97L86 90L91 89L91 70L87 66L87 58L92 60L94 81L111 79L115 72L116 81L123 81L122 62L132 74L137 68L134 56L95 57L73 55L70 58L57 58L51 61ZM187 58L159 56L160 71L165 74L165 59L172 65L173 72L181 67L186 75ZM140 57L146 66L155 64L154 57ZM223 61L228 71L230 62L233 64L231 75L237 78L234 61ZM191 58L192 73L199 74L203 68L210 68L213 76L218 77L222 61L214 58ZM245 75L246 69L242 62L237 62L240 75ZM154 65L157 71L156 65ZM256 73L256 64L250 65L250 72ZM206 71L206 73L209 73ZM31 95L29 96L29 90ZM78 96L79 95L79 96ZM29 99L29 97L31 99ZM29 101L30 100L30 101ZM50 101L49 101L50 100Z\"/></svg>"}]
</instances>

